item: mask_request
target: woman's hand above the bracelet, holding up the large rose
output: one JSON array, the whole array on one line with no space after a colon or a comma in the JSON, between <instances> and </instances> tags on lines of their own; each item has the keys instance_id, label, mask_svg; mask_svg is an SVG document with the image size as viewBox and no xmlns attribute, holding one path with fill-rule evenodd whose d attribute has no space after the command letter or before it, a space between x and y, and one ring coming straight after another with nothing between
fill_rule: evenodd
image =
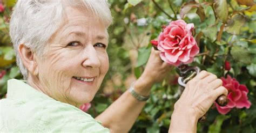
<instances>
[{"instance_id":1,"label":"woman's hand above the bracelet, holding up the large rose","mask_svg":"<svg viewBox=\"0 0 256 133\"><path fill-rule=\"evenodd\" d=\"M141 95L149 95L152 85L163 80L171 68L173 68L170 64L162 61L159 54L160 51L154 50L152 47L146 68L142 76L133 85L136 92Z\"/></svg>"}]
</instances>

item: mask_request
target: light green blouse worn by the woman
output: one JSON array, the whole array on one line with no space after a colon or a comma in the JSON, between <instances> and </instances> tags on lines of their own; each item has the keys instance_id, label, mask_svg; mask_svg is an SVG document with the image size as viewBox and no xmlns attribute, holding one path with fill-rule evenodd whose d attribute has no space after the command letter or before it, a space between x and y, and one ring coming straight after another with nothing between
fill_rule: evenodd
<instances>
[{"instance_id":1,"label":"light green blouse worn by the woman","mask_svg":"<svg viewBox=\"0 0 256 133\"><path fill-rule=\"evenodd\" d=\"M0 132L110 132L75 106L50 98L21 80L8 80L0 100Z\"/></svg>"}]
</instances>

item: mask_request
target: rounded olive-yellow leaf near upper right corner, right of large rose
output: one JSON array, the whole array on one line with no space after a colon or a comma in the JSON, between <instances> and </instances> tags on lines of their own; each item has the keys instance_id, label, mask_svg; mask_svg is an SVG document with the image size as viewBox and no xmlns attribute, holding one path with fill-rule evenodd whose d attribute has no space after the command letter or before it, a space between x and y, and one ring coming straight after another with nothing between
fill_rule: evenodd
<instances>
[{"instance_id":1,"label":"rounded olive-yellow leaf near upper right corner, right of large rose","mask_svg":"<svg viewBox=\"0 0 256 133\"><path fill-rule=\"evenodd\" d=\"M230 34L240 34L241 27L245 24L245 17L240 14L235 14L231 20L227 22L226 31Z\"/></svg>"}]
</instances>

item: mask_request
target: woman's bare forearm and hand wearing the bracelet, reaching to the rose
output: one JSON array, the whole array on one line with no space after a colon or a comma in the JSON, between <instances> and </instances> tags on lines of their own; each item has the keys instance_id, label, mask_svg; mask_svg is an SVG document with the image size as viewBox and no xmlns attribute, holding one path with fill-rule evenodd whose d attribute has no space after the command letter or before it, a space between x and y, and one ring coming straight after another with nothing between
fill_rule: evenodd
<instances>
[{"instance_id":1,"label":"woman's bare forearm and hand wearing the bracelet, reaching to the rose","mask_svg":"<svg viewBox=\"0 0 256 133\"><path fill-rule=\"evenodd\" d=\"M142 76L134 83L134 90L141 95L149 95L154 83L162 80L172 68L161 61L160 51L152 48L149 61ZM138 101L129 91L122 94L102 114L96 117L111 132L128 132L136 121L146 102Z\"/></svg>"}]
</instances>

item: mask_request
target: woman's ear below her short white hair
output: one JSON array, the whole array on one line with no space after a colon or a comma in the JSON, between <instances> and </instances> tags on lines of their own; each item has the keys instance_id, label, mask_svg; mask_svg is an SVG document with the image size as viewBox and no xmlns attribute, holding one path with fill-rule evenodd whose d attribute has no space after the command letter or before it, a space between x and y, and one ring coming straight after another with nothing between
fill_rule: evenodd
<instances>
[{"instance_id":1,"label":"woman's ear below her short white hair","mask_svg":"<svg viewBox=\"0 0 256 133\"><path fill-rule=\"evenodd\" d=\"M26 47L24 44L19 45L18 53L21 56L24 67L33 76L38 75L38 65L36 61L36 55L31 51L30 48Z\"/></svg>"}]
</instances>

